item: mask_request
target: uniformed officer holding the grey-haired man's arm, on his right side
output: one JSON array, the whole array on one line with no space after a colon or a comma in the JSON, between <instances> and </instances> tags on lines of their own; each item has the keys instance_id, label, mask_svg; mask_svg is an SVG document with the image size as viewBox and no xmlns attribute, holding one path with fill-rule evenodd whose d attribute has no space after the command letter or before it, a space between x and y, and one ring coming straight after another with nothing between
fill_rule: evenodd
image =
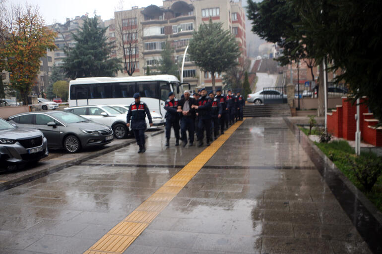
<instances>
[{"instance_id":1,"label":"uniformed officer holding the grey-haired man's arm, on his right side","mask_svg":"<svg viewBox=\"0 0 382 254\"><path fill-rule=\"evenodd\" d=\"M205 130L205 134L207 137L207 146L209 146L209 142L211 141L211 99L207 96L207 91L204 88L201 89L201 98L198 101L198 105L192 105L191 108L197 109L197 113L199 115L199 124L198 124L198 147L203 145L203 133Z\"/></svg>"}]
</instances>

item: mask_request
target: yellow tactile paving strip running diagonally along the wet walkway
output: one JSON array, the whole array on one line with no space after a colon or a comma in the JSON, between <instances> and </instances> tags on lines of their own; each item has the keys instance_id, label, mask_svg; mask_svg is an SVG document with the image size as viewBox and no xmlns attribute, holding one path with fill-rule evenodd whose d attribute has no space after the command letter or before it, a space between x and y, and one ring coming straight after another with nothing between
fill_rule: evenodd
<instances>
[{"instance_id":1,"label":"yellow tactile paving strip running diagonally along the wet walkway","mask_svg":"<svg viewBox=\"0 0 382 254\"><path fill-rule=\"evenodd\" d=\"M232 125L84 254L122 254L242 123Z\"/></svg>"}]
</instances>

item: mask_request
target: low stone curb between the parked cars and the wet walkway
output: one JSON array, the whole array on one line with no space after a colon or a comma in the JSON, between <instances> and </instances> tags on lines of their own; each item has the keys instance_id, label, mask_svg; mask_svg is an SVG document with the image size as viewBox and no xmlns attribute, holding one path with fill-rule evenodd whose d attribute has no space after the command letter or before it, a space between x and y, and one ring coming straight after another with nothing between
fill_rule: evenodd
<instances>
[{"instance_id":1,"label":"low stone curb between the parked cars and the wet walkway","mask_svg":"<svg viewBox=\"0 0 382 254\"><path fill-rule=\"evenodd\" d=\"M153 137L153 136L159 135L159 134L161 134L163 132L164 132L164 130L160 130L160 131L157 131L157 132L154 132L154 133L150 134L150 136ZM148 138L147 135L145 135L145 137L146 137L146 139ZM72 159L72 160L69 160L69 161L65 161L65 162L62 162L60 164L56 164L54 166L50 166L48 168L44 168L44 169L42 169L40 171L31 173L31 174L27 174L27 175L18 177L16 179L13 179L13 180L1 183L0 184L0 192L8 190L8 189L11 189L11 188L19 186L19 185L22 185L22 184L24 184L27 181L30 182L30 181L39 179L41 177L44 177L46 175L53 174L55 172L63 170L64 168L67 168L67 167L70 167L70 166L79 165L79 164L81 164L82 162L84 162L86 160L95 158L95 157L97 157L99 155L103 155L103 154L106 154L108 152L113 152L115 150L121 149L121 148L126 147L126 146L128 146L130 144L133 144L133 143L135 143L135 139L128 140L126 142L110 146L110 147L108 147L106 149L103 149L103 150L100 150L100 151L95 151L95 152L92 152L91 154L80 156L78 158L75 158L75 159Z\"/></svg>"}]
</instances>

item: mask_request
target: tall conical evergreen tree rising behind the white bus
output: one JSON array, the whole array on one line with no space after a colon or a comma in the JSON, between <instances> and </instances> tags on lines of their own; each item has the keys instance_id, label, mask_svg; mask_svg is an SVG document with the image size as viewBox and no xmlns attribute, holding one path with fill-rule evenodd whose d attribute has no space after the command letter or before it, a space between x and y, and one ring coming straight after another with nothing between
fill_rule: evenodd
<instances>
[{"instance_id":1,"label":"tall conical evergreen tree rising behind the white bus","mask_svg":"<svg viewBox=\"0 0 382 254\"><path fill-rule=\"evenodd\" d=\"M107 42L107 28L98 24L98 19L88 18L78 34L72 34L76 44L74 48L64 49L64 71L70 79L82 77L116 76L121 70L121 60L109 58L114 42Z\"/></svg>"}]
</instances>

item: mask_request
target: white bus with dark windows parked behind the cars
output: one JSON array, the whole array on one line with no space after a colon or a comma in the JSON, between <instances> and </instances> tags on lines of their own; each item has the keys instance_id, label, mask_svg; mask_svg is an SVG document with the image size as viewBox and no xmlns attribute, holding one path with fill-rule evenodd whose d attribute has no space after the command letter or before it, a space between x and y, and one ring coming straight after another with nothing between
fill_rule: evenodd
<instances>
[{"instance_id":1,"label":"white bus with dark windows parked behind the cars","mask_svg":"<svg viewBox=\"0 0 382 254\"><path fill-rule=\"evenodd\" d=\"M189 85L190 87L190 85ZM139 93L150 111L165 115L165 101L169 92L181 99L183 88L177 77L172 75L152 75L134 77L77 78L69 82L69 106L97 104L126 104L134 101L132 96Z\"/></svg>"}]
</instances>

